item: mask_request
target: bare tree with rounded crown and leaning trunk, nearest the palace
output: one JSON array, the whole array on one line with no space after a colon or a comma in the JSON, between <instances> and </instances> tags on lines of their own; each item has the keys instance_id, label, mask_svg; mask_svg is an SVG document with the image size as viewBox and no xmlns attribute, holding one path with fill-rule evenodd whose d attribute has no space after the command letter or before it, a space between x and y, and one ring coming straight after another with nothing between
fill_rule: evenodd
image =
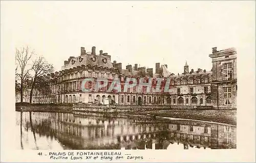
<instances>
[{"instance_id":1,"label":"bare tree with rounded crown and leaning trunk, nearest the palace","mask_svg":"<svg viewBox=\"0 0 256 163\"><path fill-rule=\"evenodd\" d=\"M35 84L37 81L40 79L41 76L44 76L48 73L52 73L54 68L52 64L49 64L44 57L39 56L33 63L32 66L33 74L34 74L34 80L31 85L31 90L30 90L30 99L29 102L32 102L32 94L33 94L33 89L35 88Z\"/></svg>"}]
</instances>

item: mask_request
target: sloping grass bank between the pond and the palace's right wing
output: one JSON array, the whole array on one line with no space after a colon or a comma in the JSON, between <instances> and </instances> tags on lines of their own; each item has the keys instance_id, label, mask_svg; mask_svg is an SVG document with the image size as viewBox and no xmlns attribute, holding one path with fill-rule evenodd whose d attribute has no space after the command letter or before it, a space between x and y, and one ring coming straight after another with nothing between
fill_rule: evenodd
<instances>
[{"instance_id":1,"label":"sloping grass bank between the pond and the palace's right wing","mask_svg":"<svg viewBox=\"0 0 256 163\"><path fill-rule=\"evenodd\" d=\"M230 110L161 110L127 114L144 116L150 114L157 117L183 118L237 125L237 111Z\"/></svg>"}]
</instances>

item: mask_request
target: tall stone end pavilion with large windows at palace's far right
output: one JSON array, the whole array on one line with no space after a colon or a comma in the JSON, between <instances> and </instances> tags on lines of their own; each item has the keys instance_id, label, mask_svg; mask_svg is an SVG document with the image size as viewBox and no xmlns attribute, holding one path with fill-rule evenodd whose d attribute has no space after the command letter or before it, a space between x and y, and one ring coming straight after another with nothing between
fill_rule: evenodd
<instances>
[{"instance_id":1,"label":"tall stone end pavilion with large windows at palace's far right","mask_svg":"<svg viewBox=\"0 0 256 163\"><path fill-rule=\"evenodd\" d=\"M216 109L237 108L237 50L212 48L211 97Z\"/></svg>"}]
</instances>

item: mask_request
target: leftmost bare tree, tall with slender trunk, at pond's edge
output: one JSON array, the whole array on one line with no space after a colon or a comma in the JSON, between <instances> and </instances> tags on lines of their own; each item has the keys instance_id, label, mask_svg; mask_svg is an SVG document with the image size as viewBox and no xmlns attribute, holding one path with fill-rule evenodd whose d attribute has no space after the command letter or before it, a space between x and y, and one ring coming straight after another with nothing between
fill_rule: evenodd
<instances>
[{"instance_id":1,"label":"leftmost bare tree, tall with slender trunk, at pond's edge","mask_svg":"<svg viewBox=\"0 0 256 163\"><path fill-rule=\"evenodd\" d=\"M30 77L29 71L31 69L27 69L28 63L31 57L35 54L34 50L30 51L29 47L22 49L16 48L15 53L15 61L16 61L16 79L20 81L20 102L23 102L23 91L24 91L24 83Z\"/></svg>"}]
</instances>

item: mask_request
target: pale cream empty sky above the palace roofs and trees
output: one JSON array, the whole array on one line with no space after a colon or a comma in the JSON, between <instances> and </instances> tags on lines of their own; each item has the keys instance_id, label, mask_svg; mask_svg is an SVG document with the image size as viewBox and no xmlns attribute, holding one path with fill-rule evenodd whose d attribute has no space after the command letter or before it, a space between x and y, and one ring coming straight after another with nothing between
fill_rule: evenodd
<instances>
[{"instance_id":1,"label":"pale cream empty sky above the palace roofs and trees","mask_svg":"<svg viewBox=\"0 0 256 163\"><path fill-rule=\"evenodd\" d=\"M57 71L81 46L96 46L123 69L138 63L155 72L160 62L177 74L185 61L210 70L212 47L254 40L254 12L254 1L2 1L1 42L13 56L15 47L29 45Z\"/></svg>"}]
</instances>

